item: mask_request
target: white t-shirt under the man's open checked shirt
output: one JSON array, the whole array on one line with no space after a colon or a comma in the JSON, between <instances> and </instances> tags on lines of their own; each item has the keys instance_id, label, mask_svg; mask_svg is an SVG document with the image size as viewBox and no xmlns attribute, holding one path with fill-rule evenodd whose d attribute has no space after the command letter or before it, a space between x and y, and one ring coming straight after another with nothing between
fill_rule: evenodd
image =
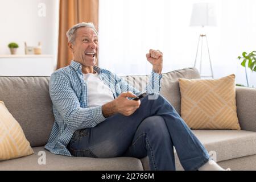
<instances>
[{"instance_id":1,"label":"white t-shirt under the man's open checked shirt","mask_svg":"<svg viewBox=\"0 0 256 182\"><path fill-rule=\"evenodd\" d=\"M112 91L100 79L98 73L86 73L84 74L84 80L87 85L88 107L101 106L114 100Z\"/></svg>"}]
</instances>

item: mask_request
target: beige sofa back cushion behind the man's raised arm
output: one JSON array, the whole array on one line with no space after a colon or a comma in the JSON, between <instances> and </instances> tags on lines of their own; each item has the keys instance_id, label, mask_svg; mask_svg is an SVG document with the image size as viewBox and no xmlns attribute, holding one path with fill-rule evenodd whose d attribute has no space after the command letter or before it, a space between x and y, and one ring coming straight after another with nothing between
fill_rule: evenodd
<instances>
[{"instance_id":1,"label":"beige sofa back cushion behind the man's raised arm","mask_svg":"<svg viewBox=\"0 0 256 182\"><path fill-rule=\"evenodd\" d=\"M200 73L196 68L184 68L162 74L160 94L164 96L180 114L180 89L178 78L200 78ZM147 76L122 76L134 88L144 91L149 78Z\"/></svg>"}]
</instances>

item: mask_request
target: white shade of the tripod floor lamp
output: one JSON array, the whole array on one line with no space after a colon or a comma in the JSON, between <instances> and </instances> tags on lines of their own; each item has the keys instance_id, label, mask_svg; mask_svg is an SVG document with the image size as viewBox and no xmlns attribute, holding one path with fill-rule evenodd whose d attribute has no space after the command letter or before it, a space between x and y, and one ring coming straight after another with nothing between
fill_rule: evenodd
<instances>
[{"instance_id":1,"label":"white shade of the tripod floor lamp","mask_svg":"<svg viewBox=\"0 0 256 182\"><path fill-rule=\"evenodd\" d=\"M215 7L212 3L193 4L190 26L216 26Z\"/></svg>"}]
</instances>

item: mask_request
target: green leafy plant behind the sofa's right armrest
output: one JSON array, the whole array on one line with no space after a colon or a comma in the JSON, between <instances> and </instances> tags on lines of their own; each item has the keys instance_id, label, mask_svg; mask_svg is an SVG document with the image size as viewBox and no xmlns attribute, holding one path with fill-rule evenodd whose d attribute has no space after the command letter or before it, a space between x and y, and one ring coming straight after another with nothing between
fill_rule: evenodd
<instances>
[{"instance_id":1,"label":"green leafy plant behind the sofa's right armrest","mask_svg":"<svg viewBox=\"0 0 256 182\"><path fill-rule=\"evenodd\" d=\"M256 57L255 56L256 56L256 51L252 51L248 54L246 52L243 52L242 56L237 57L238 60L242 59L241 65L243 67L245 67L245 76L246 76L247 86L249 86L249 82L248 82L246 67L250 68L252 72L256 72Z\"/></svg>"}]
</instances>

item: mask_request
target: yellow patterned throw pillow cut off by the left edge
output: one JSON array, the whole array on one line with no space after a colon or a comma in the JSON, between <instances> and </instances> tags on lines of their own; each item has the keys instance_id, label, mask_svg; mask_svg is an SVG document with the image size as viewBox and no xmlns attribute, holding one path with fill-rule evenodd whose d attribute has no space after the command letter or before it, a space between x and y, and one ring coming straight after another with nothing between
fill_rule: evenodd
<instances>
[{"instance_id":1,"label":"yellow patterned throw pillow cut off by the left edge","mask_svg":"<svg viewBox=\"0 0 256 182\"><path fill-rule=\"evenodd\" d=\"M22 127L0 101L0 160L34 154Z\"/></svg>"}]
</instances>

